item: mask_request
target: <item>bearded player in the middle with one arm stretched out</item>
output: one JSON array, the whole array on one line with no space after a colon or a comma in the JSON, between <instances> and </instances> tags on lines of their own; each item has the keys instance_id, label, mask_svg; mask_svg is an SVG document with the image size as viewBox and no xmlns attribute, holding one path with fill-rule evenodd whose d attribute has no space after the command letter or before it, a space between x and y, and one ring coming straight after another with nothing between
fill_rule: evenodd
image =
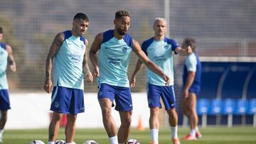
<instances>
[{"instance_id":1,"label":"bearded player in the middle with one arm stretched out","mask_svg":"<svg viewBox=\"0 0 256 144\"><path fill-rule=\"evenodd\" d=\"M90 48L90 60L94 66L93 75L98 77L98 100L102 109L102 121L111 144L124 143L129 137L132 121L132 96L127 78L130 52L144 62L146 67L159 74L165 84L169 77L151 62L136 40L127 33L131 16L128 11L115 13L114 30L96 35ZM97 58L97 51L100 50ZM112 105L119 111L121 126L117 133L116 124L112 118Z\"/></svg>"}]
</instances>

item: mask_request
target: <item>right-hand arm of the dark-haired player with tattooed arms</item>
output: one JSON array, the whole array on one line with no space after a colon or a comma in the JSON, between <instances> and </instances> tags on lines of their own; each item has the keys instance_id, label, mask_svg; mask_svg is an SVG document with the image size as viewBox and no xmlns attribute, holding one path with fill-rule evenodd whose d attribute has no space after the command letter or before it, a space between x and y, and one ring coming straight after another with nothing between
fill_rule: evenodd
<instances>
[{"instance_id":1,"label":"right-hand arm of the dark-haired player with tattooed arms","mask_svg":"<svg viewBox=\"0 0 256 144\"><path fill-rule=\"evenodd\" d=\"M89 54L89 48L88 48L89 42L88 40L85 39L85 55L82 61L82 73L84 74L84 77L86 79L87 82L92 82L93 77L92 77L92 73L90 72L90 68L88 66L88 54Z\"/></svg>"}]
</instances>

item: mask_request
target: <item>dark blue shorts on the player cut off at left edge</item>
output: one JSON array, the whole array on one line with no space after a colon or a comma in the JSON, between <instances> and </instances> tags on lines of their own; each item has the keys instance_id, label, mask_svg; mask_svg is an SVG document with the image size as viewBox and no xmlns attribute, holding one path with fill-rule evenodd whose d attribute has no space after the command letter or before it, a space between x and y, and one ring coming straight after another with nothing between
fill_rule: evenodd
<instances>
[{"instance_id":1,"label":"dark blue shorts on the player cut off at left edge","mask_svg":"<svg viewBox=\"0 0 256 144\"><path fill-rule=\"evenodd\" d=\"M11 109L8 89L0 89L0 110Z\"/></svg>"}]
</instances>

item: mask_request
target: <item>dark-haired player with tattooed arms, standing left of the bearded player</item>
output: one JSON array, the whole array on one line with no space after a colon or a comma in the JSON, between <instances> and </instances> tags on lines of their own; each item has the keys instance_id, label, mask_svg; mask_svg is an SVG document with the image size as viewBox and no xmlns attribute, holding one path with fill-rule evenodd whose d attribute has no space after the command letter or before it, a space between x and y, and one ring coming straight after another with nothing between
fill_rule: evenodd
<instances>
[{"instance_id":1,"label":"dark-haired player with tattooed arms, standing left of the bearded player","mask_svg":"<svg viewBox=\"0 0 256 144\"><path fill-rule=\"evenodd\" d=\"M60 119L67 113L65 143L73 142L75 121L78 113L85 111L83 89L84 82L92 82L92 74L87 65L88 41L82 37L89 26L85 13L77 13L73 18L71 31L55 36L46 59L46 82L44 89L52 92L50 110L53 118L49 126L48 144L54 144L60 128ZM51 70L54 59L54 85ZM54 86L54 87L53 87Z\"/></svg>"}]
</instances>

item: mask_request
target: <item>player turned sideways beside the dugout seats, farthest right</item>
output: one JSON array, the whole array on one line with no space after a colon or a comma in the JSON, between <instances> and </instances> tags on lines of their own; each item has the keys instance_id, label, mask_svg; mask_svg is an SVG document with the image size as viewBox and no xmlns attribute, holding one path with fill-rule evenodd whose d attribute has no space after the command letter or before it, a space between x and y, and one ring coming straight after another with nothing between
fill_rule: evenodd
<instances>
[{"instance_id":1,"label":"player turned sideways beside the dugout seats, farthest right","mask_svg":"<svg viewBox=\"0 0 256 144\"><path fill-rule=\"evenodd\" d=\"M196 113L196 96L201 89L201 62L196 53L196 40L186 38L182 43L182 48L191 46L193 52L186 57L183 71L183 113L188 117L191 131L183 137L184 140L196 140L201 138L198 131L198 115Z\"/></svg>"}]
</instances>

